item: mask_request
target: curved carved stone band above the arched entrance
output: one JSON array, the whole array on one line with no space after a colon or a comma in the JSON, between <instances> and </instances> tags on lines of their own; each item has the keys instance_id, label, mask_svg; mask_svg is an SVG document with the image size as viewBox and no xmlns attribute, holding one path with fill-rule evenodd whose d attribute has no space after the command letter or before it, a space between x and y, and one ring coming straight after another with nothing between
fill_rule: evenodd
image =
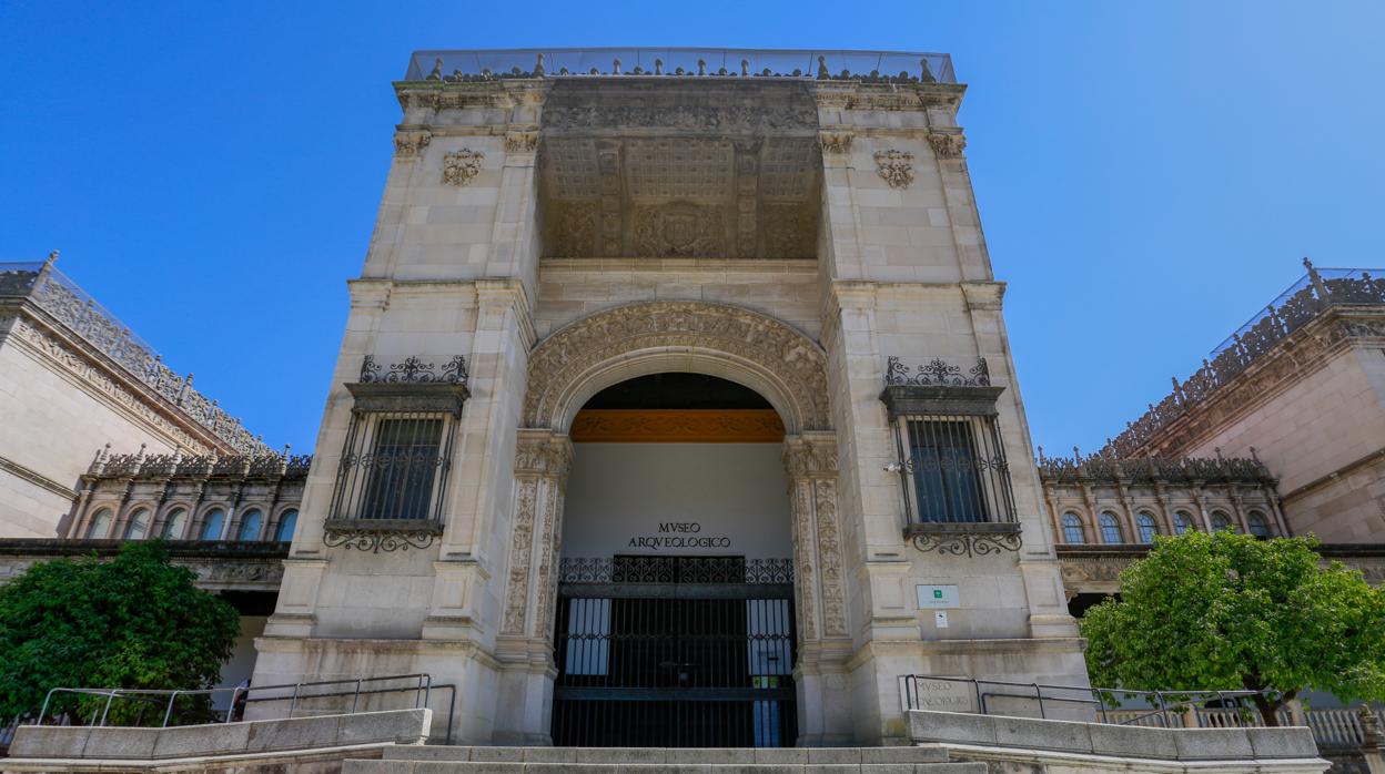
<instances>
[{"instance_id":1,"label":"curved carved stone band above the arched entrance","mask_svg":"<svg viewBox=\"0 0 1385 774\"><path fill-rule=\"evenodd\" d=\"M686 300L607 309L540 342L529 356L524 426L564 432L598 390L661 371L744 384L778 410L789 435L831 426L817 342L758 312Z\"/></svg>"}]
</instances>

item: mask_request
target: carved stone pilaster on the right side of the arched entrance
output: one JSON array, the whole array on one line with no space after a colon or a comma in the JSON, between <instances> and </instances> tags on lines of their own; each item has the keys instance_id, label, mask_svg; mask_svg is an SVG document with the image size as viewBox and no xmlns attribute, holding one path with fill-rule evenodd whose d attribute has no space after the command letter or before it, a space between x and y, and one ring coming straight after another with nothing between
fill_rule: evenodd
<instances>
[{"instance_id":1,"label":"carved stone pilaster on the right side of the arched entrance","mask_svg":"<svg viewBox=\"0 0 1385 774\"><path fill-rule=\"evenodd\" d=\"M846 659L852 654L846 613L837 492L837 438L807 432L784 442L794 533L798 611L799 744L850 739Z\"/></svg>"}]
</instances>

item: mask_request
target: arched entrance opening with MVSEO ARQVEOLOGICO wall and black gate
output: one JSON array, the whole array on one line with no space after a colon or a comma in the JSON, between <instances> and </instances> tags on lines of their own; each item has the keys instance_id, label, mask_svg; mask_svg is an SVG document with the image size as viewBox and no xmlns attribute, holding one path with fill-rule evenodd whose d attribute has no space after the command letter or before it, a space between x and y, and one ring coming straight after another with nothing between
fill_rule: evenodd
<instances>
[{"instance_id":1,"label":"arched entrance opening with MVSEO ARQVEOLOGICO wall and black gate","mask_svg":"<svg viewBox=\"0 0 1385 774\"><path fill-rule=\"evenodd\" d=\"M794 745L776 410L735 382L662 372L596 393L569 432L553 742Z\"/></svg>"}]
</instances>

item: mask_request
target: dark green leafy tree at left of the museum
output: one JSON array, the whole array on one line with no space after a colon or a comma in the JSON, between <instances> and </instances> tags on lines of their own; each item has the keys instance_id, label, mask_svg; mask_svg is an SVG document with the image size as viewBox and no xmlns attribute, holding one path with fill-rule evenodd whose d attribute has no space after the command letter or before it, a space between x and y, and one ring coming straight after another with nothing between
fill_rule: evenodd
<instances>
[{"instance_id":1,"label":"dark green leafy tree at left of the museum","mask_svg":"<svg viewBox=\"0 0 1385 774\"><path fill-rule=\"evenodd\" d=\"M0 586L0 719L37 713L54 687L212 687L240 616L194 579L155 540L129 543L109 561L42 562ZM72 696L54 702L50 712L93 705ZM181 706L195 703L205 706Z\"/></svg>"}]
</instances>

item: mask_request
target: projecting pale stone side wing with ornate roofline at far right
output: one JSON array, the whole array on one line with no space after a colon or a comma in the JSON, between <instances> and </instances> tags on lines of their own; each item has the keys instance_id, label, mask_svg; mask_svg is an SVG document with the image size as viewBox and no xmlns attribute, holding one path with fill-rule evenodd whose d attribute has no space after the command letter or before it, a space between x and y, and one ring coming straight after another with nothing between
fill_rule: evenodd
<instances>
[{"instance_id":1,"label":"projecting pale stone side wing with ornate roofline at far right","mask_svg":"<svg viewBox=\"0 0 1385 774\"><path fill-rule=\"evenodd\" d=\"M1258 457L1295 534L1385 540L1385 281L1316 269L1111 442L1120 457Z\"/></svg>"}]
</instances>

